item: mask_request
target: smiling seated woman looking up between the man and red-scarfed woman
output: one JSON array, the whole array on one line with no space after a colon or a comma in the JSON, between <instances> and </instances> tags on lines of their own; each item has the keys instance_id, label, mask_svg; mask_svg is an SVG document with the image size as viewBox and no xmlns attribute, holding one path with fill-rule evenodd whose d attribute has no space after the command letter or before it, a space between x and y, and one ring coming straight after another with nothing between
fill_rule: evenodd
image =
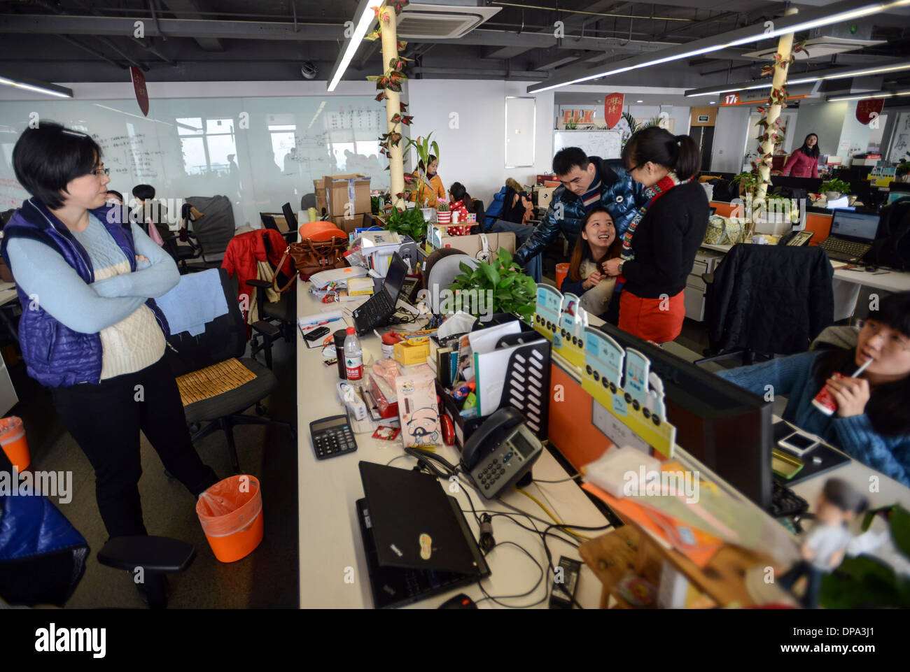
<instances>
[{"instance_id":1,"label":"smiling seated woman looking up between the man and red-scarfed woman","mask_svg":"<svg viewBox=\"0 0 910 672\"><path fill-rule=\"evenodd\" d=\"M582 308L612 325L619 319L619 306L611 301L616 277L604 273L602 264L621 254L622 239L616 235L612 216L607 208L595 207L581 223L581 236L575 240L569 273L560 287L563 294L581 296Z\"/></svg>"}]
</instances>

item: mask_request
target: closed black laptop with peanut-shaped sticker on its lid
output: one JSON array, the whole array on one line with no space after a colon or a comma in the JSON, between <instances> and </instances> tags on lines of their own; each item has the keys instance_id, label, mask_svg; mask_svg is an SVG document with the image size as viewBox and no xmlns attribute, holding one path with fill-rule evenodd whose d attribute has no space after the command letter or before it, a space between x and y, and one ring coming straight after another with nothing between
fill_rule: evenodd
<instances>
[{"instance_id":1,"label":"closed black laptop with peanut-shaped sticker on its lid","mask_svg":"<svg viewBox=\"0 0 910 672\"><path fill-rule=\"evenodd\" d=\"M376 608L403 607L490 576L455 497L436 476L360 462L360 535Z\"/></svg>"}]
</instances>

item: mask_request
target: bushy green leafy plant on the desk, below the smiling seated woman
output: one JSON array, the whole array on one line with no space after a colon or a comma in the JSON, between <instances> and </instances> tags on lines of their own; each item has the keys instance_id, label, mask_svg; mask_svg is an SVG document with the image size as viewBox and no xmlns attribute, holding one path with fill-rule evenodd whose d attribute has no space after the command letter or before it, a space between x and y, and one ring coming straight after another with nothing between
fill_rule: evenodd
<instances>
[{"instance_id":1,"label":"bushy green leafy plant on the desk, below the smiling seated woman","mask_svg":"<svg viewBox=\"0 0 910 672\"><path fill-rule=\"evenodd\" d=\"M512 256L505 247L500 247L500 251L490 257L490 263L481 261L477 268L471 268L462 262L459 267L461 275L455 276L450 289L490 292L486 296L492 296L492 306L485 304L484 309L494 313L518 313L526 320L531 318L537 301L537 285L523 269L512 267ZM466 308L473 307L480 313L480 301L466 304Z\"/></svg>"}]
</instances>

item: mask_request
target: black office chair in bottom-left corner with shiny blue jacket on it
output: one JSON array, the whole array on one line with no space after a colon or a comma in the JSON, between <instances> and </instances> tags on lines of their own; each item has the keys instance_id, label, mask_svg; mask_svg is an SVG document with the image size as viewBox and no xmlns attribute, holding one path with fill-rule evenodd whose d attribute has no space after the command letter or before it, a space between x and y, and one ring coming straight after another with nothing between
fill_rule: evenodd
<instances>
[{"instance_id":1,"label":"black office chair in bottom-left corner with shiny blue jacket on it","mask_svg":"<svg viewBox=\"0 0 910 672\"><path fill-rule=\"evenodd\" d=\"M0 471L13 466L0 451ZM86 572L91 549L86 538L44 495L0 496L0 601L7 605L64 607ZM196 557L192 544L168 537L114 537L98 562L146 576L187 570ZM147 582L148 587L160 582ZM167 607L167 593L147 591L148 606Z\"/></svg>"}]
</instances>

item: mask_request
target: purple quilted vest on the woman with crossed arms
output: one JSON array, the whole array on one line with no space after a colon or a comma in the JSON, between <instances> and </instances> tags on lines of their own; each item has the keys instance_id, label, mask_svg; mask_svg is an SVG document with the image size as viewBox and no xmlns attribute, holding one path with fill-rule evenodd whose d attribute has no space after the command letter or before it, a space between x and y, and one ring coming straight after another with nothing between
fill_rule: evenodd
<instances>
[{"instance_id":1,"label":"purple quilted vest on the woman with crossed arms","mask_svg":"<svg viewBox=\"0 0 910 672\"><path fill-rule=\"evenodd\" d=\"M135 271L133 234L128 221L121 224L122 212L119 206L102 206L91 211L123 250L129 260L130 270ZM4 227L0 255L7 266L10 263L6 245L17 236L38 240L53 247L86 283L95 282L95 270L86 249L66 225L37 199L25 201ZM73 331L46 313L40 301L29 298L22 287L16 285L15 288L22 303L19 346L22 348L28 375L48 387L101 382L101 336ZM155 314L165 337L170 336L167 319L155 301L148 299L146 305Z\"/></svg>"}]
</instances>

